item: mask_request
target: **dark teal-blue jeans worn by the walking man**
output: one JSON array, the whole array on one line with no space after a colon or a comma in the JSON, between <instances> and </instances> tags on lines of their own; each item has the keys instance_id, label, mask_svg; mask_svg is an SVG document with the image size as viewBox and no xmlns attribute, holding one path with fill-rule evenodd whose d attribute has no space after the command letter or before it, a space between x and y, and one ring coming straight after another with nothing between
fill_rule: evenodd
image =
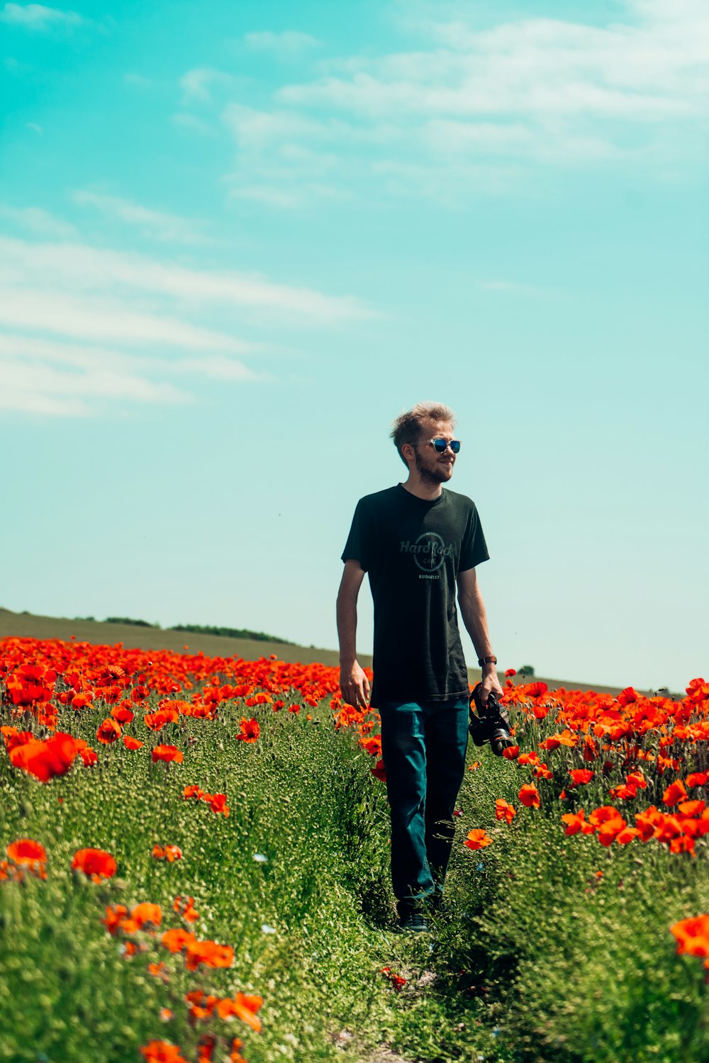
<instances>
[{"instance_id":1,"label":"dark teal-blue jeans worn by the walking man","mask_svg":"<svg viewBox=\"0 0 709 1063\"><path fill-rule=\"evenodd\" d=\"M443 893L453 810L466 772L468 698L384 702L379 715L391 808L391 884L405 916Z\"/></svg>"}]
</instances>

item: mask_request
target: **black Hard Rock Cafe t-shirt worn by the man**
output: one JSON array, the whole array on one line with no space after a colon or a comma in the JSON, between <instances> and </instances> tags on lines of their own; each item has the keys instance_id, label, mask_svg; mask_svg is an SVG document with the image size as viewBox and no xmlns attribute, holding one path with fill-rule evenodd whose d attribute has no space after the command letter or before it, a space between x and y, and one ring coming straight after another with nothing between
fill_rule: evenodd
<instances>
[{"instance_id":1,"label":"black Hard Rock Cafe t-shirt worn by the man","mask_svg":"<svg viewBox=\"0 0 709 1063\"><path fill-rule=\"evenodd\" d=\"M372 589L373 706L468 695L456 576L488 558L465 494L426 502L398 484L359 500L342 560L359 561Z\"/></svg>"}]
</instances>

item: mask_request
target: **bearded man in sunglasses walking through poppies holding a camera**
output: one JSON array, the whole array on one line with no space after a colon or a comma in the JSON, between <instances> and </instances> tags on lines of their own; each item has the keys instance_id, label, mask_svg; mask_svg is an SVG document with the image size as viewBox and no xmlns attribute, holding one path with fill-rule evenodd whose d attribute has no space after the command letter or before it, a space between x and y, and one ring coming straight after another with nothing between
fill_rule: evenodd
<instances>
[{"instance_id":1,"label":"bearded man in sunglasses walking through poppies holding a camera","mask_svg":"<svg viewBox=\"0 0 709 1063\"><path fill-rule=\"evenodd\" d=\"M391 878L401 928L428 929L440 907L465 774L469 685L456 613L477 651L483 701L502 693L475 567L488 559L474 503L443 490L460 443L448 406L419 403L391 437L407 467L403 484L357 503L337 597L340 690L366 709L357 661L357 596L369 573L374 600L371 705L382 718L391 808Z\"/></svg>"}]
</instances>

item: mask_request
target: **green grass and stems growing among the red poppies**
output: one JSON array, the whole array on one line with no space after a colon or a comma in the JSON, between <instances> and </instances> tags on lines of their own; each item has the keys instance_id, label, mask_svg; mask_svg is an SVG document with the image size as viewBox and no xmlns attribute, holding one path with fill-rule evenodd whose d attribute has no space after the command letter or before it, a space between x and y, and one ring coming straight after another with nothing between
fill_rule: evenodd
<instances>
[{"instance_id":1,"label":"green grass and stems growing among the red poppies","mask_svg":"<svg viewBox=\"0 0 709 1063\"><path fill-rule=\"evenodd\" d=\"M215 722L169 724L159 741L179 745L183 764L117 744L99 747L96 767L43 786L2 755L0 844L40 841L48 878L0 882L0 1060L122 1063L155 1037L193 1060L201 1030L186 1022L184 995L196 988L264 997L259 1035L238 1020L227 1028L249 1063L365 1061L382 1045L420 1063L709 1059L702 960L676 956L668 930L709 911L705 841L692 859L657 842L605 849L565 838L552 784L546 810L524 809L528 770L471 749L483 766L460 793L449 912L433 939L403 938L392 932L388 809L372 760L335 730L326 702L313 721L252 711L255 744L235 741L244 712L235 703ZM94 745L101 719L68 715ZM147 738L138 721L131 730ZM554 730L551 716L526 726ZM184 800L192 782L225 792L229 819ZM585 806L601 794L587 788ZM518 808L511 825L496 823L495 797ZM463 848L473 827L493 844ZM166 843L181 861L153 859ZM97 885L72 873L83 846L113 853L117 876ZM136 938L147 950L125 958L101 926L107 904L144 900L162 905L162 929L178 926L176 895L193 896L199 937L234 946L233 966L190 974L147 933ZM167 985L147 973L159 959ZM400 993L385 965L407 979ZM174 1017L164 1023L165 1007Z\"/></svg>"}]
</instances>

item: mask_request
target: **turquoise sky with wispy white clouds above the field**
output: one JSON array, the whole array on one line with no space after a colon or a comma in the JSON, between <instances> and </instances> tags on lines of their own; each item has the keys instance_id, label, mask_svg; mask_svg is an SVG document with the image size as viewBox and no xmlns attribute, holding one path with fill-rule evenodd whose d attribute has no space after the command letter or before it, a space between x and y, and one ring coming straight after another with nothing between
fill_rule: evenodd
<instances>
[{"instance_id":1,"label":"turquoise sky with wispy white clouds above the field","mask_svg":"<svg viewBox=\"0 0 709 1063\"><path fill-rule=\"evenodd\" d=\"M334 647L433 400L500 667L706 676L708 38L705 0L0 0L0 605Z\"/></svg>"}]
</instances>

